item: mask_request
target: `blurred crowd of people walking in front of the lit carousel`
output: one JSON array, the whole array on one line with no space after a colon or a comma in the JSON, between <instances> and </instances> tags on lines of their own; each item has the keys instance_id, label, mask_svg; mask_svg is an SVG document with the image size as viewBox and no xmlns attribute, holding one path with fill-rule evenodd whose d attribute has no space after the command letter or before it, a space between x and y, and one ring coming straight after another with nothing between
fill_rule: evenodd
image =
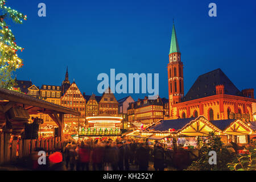
<instances>
[{"instance_id":1,"label":"blurred crowd of people walking in front of the lit carousel","mask_svg":"<svg viewBox=\"0 0 256 182\"><path fill-rule=\"evenodd\" d=\"M64 146L65 168L71 171L129 171L131 165L146 171L150 159L154 160L155 170L164 170L164 149L160 143L155 144L153 152L147 142L135 140L69 140Z\"/></svg>"}]
</instances>

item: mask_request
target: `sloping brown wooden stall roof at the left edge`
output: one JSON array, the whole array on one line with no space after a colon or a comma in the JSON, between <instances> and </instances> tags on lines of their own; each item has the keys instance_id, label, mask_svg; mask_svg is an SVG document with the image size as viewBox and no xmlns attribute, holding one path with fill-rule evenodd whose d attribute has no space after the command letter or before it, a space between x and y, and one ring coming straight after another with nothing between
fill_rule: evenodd
<instances>
[{"instance_id":1,"label":"sloping brown wooden stall roof at the left edge","mask_svg":"<svg viewBox=\"0 0 256 182\"><path fill-rule=\"evenodd\" d=\"M30 114L37 114L39 111L44 113L55 111L56 113L80 115L79 111L3 88L0 88L0 100L2 100L0 101L0 111L2 112L10 109L14 105L19 105L26 108Z\"/></svg>"}]
</instances>

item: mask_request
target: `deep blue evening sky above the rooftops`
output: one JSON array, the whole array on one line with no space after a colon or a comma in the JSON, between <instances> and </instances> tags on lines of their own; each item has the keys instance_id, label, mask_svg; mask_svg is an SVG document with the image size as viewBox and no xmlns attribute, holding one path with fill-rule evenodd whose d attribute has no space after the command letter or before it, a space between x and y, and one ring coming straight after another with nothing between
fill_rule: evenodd
<instances>
[{"instance_id":1,"label":"deep blue evening sky above the rooftops","mask_svg":"<svg viewBox=\"0 0 256 182\"><path fill-rule=\"evenodd\" d=\"M38 16L46 3L47 16ZM217 5L217 17L208 5ZM36 86L69 80L86 94L97 93L97 76L159 73L159 95L168 98L167 64L172 19L184 64L185 93L196 78L221 68L242 90L256 89L256 1L9 0L7 6L27 15L10 24L23 68L18 80ZM117 99L127 94L115 94ZM145 94L131 94L137 100Z\"/></svg>"}]
</instances>

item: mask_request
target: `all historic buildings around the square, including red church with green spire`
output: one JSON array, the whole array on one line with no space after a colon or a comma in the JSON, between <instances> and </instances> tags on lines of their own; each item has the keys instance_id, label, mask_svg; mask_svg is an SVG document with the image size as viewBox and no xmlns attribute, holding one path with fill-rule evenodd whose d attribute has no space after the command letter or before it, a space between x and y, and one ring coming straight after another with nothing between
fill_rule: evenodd
<instances>
[{"instance_id":1,"label":"all historic buildings around the square, including red church with green spire","mask_svg":"<svg viewBox=\"0 0 256 182\"><path fill-rule=\"evenodd\" d=\"M18 81L22 92L41 98L53 104L80 111L80 117L65 115L65 129L75 131L79 125L86 123L86 117L101 114L121 116L123 128L135 125L150 125L161 119L191 118L204 115L209 121L229 118L242 118L253 121L256 111L254 89L240 91L221 69L214 69L197 78L184 94L184 75L181 52L177 42L175 27L172 27L171 47L169 53L168 99L138 99L131 96L116 100L110 88L102 96L86 95L79 90L75 81L71 84L68 69L61 85L35 86L31 81ZM54 127L48 115L41 116L45 124Z\"/></svg>"}]
</instances>

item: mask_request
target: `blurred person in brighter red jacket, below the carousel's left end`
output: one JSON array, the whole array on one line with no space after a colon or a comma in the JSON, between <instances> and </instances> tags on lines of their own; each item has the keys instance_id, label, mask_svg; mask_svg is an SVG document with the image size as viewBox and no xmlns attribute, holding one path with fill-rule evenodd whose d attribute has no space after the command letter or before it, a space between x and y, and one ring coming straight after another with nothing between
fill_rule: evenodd
<instances>
[{"instance_id":1,"label":"blurred person in brighter red jacket, below the carousel's left end","mask_svg":"<svg viewBox=\"0 0 256 182\"><path fill-rule=\"evenodd\" d=\"M89 163L90 163L90 154L91 154L91 147L89 144L85 144L83 141L81 142L80 148L79 148L79 163L80 168L82 171L84 171L84 168L86 171L89 171Z\"/></svg>"}]
</instances>

